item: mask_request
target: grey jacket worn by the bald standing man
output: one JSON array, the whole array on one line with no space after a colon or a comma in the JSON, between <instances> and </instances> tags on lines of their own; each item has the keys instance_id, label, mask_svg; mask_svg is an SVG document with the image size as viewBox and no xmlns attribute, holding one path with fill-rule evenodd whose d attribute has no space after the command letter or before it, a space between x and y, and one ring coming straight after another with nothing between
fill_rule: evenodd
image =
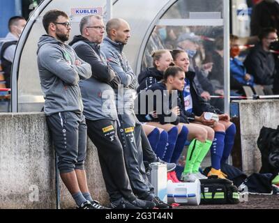
<instances>
[{"instance_id":1,"label":"grey jacket worn by the bald standing man","mask_svg":"<svg viewBox=\"0 0 279 223\"><path fill-rule=\"evenodd\" d=\"M130 67L126 56L123 54L122 43L115 43L110 38L105 37L101 49L103 50L107 61L112 66L112 69L120 77L121 84L123 84L123 91L116 93L116 103L118 113L121 114L123 110L133 110L135 100L135 87L137 86L137 77Z\"/></svg>"}]
</instances>

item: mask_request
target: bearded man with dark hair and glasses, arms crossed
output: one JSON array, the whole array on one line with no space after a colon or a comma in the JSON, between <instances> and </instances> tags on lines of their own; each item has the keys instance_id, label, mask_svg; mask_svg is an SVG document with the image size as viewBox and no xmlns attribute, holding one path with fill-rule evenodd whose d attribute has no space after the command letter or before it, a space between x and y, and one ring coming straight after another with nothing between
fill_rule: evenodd
<instances>
[{"instance_id":1,"label":"bearded man with dark hair and glasses, arms crossed","mask_svg":"<svg viewBox=\"0 0 279 223\"><path fill-rule=\"evenodd\" d=\"M78 83L91 77L91 66L65 43L71 29L66 13L48 11L43 26L47 35L38 42L38 70L60 176L78 208L104 209L91 198L84 171L86 123Z\"/></svg>"}]
</instances>

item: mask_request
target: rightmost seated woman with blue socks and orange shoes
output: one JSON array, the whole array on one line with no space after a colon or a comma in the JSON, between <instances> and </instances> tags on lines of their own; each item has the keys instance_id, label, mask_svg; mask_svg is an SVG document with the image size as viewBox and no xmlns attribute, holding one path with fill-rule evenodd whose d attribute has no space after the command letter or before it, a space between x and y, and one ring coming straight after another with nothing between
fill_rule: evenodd
<instances>
[{"instance_id":1,"label":"rightmost seated woman with blue socks and orange shoes","mask_svg":"<svg viewBox=\"0 0 279 223\"><path fill-rule=\"evenodd\" d=\"M227 114L220 114L218 109L212 107L201 98L194 81L195 72L188 71L188 54L183 50L173 50L172 57L174 59L174 64L183 68L183 71L186 73L186 85L183 88L183 91L181 91L181 114L192 116L193 118L190 120L191 122L207 125L207 128L210 127L215 132L213 139L214 143L211 146L211 171L209 171L208 176L216 175L218 178L225 178L226 175L220 170L221 164L227 161L227 158L232 151L236 126L229 121L230 118ZM204 112L218 114L219 121L206 121L204 118ZM196 118L195 115L200 117ZM184 169L184 173L187 172L187 169Z\"/></svg>"}]
</instances>

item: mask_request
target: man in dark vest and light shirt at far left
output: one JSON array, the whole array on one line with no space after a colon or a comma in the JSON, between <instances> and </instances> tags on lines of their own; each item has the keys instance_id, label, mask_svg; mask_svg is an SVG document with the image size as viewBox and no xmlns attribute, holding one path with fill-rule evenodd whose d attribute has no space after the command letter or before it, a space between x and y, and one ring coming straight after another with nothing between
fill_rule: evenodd
<instances>
[{"instance_id":1,"label":"man in dark vest and light shirt at far left","mask_svg":"<svg viewBox=\"0 0 279 223\"><path fill-rule=\"evenodd\" d=\"M21 16L11 17L8 22L9 33L3 40L3 45L0 49L0 61L4 72L6 87L10 89L10 72L12 69L13 58L15 56L15 47L17 41L22 34L26 20Z\"/></svg>"}]
</instances>

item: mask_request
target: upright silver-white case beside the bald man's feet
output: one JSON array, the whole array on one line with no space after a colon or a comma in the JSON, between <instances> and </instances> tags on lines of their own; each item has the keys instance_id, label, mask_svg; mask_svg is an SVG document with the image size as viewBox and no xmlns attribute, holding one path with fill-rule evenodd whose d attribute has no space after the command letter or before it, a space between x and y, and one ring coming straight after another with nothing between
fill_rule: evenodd
<instances>
[{"instance_id":1,"label":"upright silver-white case beside the bald man's feet","mask_svg":"<svg viewBox=\"0 0 279 223\"><path fill-rule=\"evenodd\" d=\"M154 187L154 192L162 201L167 203L167 164L152 162L151 172L148 176Z\"/></svg>"}]
</instances>

